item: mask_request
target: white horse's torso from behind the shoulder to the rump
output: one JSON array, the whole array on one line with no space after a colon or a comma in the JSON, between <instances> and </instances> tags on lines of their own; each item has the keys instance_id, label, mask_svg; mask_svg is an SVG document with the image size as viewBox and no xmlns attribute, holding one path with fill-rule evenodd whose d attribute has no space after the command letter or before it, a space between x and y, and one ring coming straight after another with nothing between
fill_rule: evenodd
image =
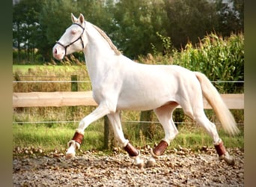
<instances>
[{"instance_id":1,"label":"white horse's torso from behind the shoulder to the rump","mask_svg":"<svg viewBox=\"0 0 256 187\"><path fill-rule=\"evenodd\" d=\"M147 65L130 62L121 74L121 109L149 110L168 102L180 102L189 92L200 91L195 73L177 65Z\"/></svg>"}]
</instances>

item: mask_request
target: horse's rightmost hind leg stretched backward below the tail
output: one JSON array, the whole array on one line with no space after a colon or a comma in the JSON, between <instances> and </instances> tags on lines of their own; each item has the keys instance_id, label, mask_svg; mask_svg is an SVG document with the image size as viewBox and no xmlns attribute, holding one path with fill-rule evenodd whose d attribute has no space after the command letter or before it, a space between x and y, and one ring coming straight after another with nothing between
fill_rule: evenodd
<instances>
[{"instance_id":1,"label":"horse's rightmost hind leg stretched backward below the tail","mask_svg":"<svg viewBox=\"0 0 256 187\"><path fill-rule=\"evenodd\" d=\"M204 110L199 110L197 108L197 111L194 111L193 115L191 116L196 122L203 126L204 129L206 129L206 131L210 135L210 137L213 138L213 144L214 147L216 148L216 152L219 155L219 159L224 159L228 165L234 165L233 157L228 154L227 150L225 150L225 146L223 145L222 139L219 138L219 134L217 132L215 124L208 120L208 118L204 114Z\"/></svg>"}]
</instances>

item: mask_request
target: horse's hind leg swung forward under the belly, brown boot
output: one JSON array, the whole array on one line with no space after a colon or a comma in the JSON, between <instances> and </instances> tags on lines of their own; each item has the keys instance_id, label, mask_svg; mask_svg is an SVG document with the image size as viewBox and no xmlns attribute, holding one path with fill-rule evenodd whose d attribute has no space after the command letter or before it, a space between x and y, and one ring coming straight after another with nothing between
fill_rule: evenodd
<instances>
[{"instance_id":1,"label":"horse's hind leg swung forward under the belly, brown boot","mask_svg":"<svg viewBox=\"0 0 256 187\"><path fill-rule=\"evenodd\" d=\"M150 149L151 156L147 161L147 167L155 165L156 159L164 153L165 149L178 133L174 121L172 120L172 112L176 107L177 103L173 102L155 109L156 117L165 131L165 138L163 138L153 150Z\"/></svg>"}]
</instances>

